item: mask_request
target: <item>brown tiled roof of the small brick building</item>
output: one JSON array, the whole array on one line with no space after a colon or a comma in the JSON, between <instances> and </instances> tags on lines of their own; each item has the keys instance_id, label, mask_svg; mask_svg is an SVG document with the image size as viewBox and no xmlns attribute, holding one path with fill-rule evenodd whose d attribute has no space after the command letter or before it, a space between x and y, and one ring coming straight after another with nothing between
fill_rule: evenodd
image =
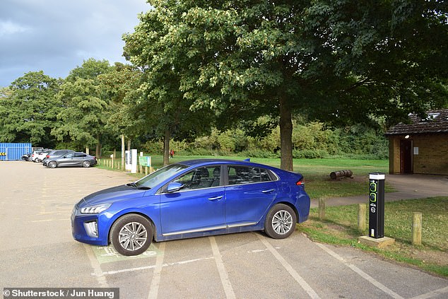
<instances>
[{"instance_id":1,"label":"brown tiled roof of the small brick building","mask_svg":"<svg viewBox=\"0 0 448 299\"><path fill-rule=\"evenodd\" d=\"M448 109L428 111L428 118L409 115L409 124L399 123L391 127L386 135L448 133Z\"/></svg>"}]
</instances>

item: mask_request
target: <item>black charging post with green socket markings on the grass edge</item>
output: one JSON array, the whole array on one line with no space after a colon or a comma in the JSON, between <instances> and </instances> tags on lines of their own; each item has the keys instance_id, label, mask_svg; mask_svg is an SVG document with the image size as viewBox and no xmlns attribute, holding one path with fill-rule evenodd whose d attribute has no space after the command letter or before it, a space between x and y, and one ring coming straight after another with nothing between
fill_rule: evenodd
<instances>
[{"instance_id":1,"label":"black charging post with green socket markings on the grass edge","mask_svg":"<svg viewBox=\"0 0 448 299\"><path fill-rule=\"evenodd\" d=\"M369 236L384 237L384 179L382 172L370 173Z\"/></svg>"}]
</instances>

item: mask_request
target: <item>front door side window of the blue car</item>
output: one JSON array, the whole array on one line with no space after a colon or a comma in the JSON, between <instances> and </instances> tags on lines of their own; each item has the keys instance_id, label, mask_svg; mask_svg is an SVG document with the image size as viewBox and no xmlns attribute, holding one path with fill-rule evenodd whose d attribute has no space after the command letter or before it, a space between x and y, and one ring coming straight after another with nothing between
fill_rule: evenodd
<instances>
[{"instance_id":1,"label":"front door side window of the blue car","mask_svg":"<svg viewBox=\"0 0 448 299\"><path fill-rule=\"evenodd\" d=\"M217 187L220 185L220 172L219 165L196 168L182 175L182 177L178 177L173 182L183 184L182 190Z\"/></svg>"}]
</instances>

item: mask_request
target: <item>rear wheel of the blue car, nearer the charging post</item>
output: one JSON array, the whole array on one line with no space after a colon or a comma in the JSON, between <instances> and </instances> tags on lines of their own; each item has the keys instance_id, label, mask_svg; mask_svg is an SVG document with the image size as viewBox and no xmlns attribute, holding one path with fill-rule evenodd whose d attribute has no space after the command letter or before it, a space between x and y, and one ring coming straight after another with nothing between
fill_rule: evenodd
<instances>
[{"instance_id":1,"label":"rear wheel of the blue car, nearer the charging post","mask_svg":"<svg viewBox=\"0 0 448 299\"><path fill-rule=\"evenodd\" d=\"M288 238L295 230L297 217L290 206L276 204L269 210L264 221L264 233L273 239Z\"/></svg>"}]
</instances>

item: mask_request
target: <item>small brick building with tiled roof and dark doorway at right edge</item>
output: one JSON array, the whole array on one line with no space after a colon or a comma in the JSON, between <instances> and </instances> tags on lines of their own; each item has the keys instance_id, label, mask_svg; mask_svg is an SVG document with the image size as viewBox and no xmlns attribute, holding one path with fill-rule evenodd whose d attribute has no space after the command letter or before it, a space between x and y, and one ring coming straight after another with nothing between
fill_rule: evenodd
<instances>
[{"instance_id":1,"label":"small brick building with tiled roof and dark doorway at right edge","mask_svg":"<svg viewBox=\"0 0 448 299\"><path fill-rule=\"evenodd\" d=\"M428 111L425 119L409 118L386 133L389 173L448 175L448 109Z\"/></svg>"}]
</instances>

